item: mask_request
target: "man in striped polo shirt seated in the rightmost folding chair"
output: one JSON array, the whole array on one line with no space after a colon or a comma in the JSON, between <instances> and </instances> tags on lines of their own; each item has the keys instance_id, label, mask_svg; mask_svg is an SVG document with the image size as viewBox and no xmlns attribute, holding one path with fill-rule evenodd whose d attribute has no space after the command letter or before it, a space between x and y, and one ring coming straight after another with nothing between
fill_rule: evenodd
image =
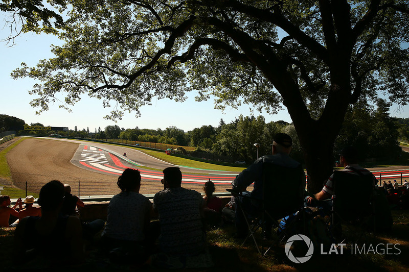
<instances>
[{"instance_id":1,"label":"man in striped polo shirt seated in the rightmost folding chair","mask_svg":"<svg viewBox=\"0 0 409 272\"><path fill-rule=\"evenodd\" d=\"M375 176L369 170L362 168L358 165L358 152L355 149L355 147L347 146L341 151L339 155L340 155L339 162L342 166L345 167L342 171L347 171L353 175L372 175L374 185L378 183ZM332 185L333 179L334 174L332 174L331 177L329 177L323 189L320 192L316 193L314 197L307 196L305 199L306 202L308 204L311 204L314 199L317 201L329 199L334 194Z\"/></svg>"}]
</instances>

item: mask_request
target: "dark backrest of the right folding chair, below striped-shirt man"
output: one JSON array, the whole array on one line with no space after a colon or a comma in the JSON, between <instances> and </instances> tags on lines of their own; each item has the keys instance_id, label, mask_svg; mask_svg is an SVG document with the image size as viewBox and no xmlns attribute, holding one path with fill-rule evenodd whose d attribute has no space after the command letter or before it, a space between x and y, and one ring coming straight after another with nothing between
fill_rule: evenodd
<instances>
[{"instance_id":1,"label":"dark backrest of the right folding chair, below striped-shirt man","mask_svg":"<svg viewBox=\"0 0 409 272\"><path fill-rule=\"evenodd\" d=\"M375 232L375 206L372 175L356 175L346 171L334 171L330 232L334 238L341 234L342 226L373 227ZM373 225L369 225L373 219Z\"/></svg>"}]
</instances>

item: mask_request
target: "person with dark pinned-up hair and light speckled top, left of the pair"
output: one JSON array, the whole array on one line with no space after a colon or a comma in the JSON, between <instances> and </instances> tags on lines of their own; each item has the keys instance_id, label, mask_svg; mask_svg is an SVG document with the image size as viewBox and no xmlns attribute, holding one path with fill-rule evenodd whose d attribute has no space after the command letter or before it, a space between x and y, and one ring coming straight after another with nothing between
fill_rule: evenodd
<instances>
[{"instance_id":1,"label":"person with dark pinned-up hair and light speckled top, left of the pair","mask_svg":"<svg viewBox=\"0 0 409 272\"><path fill-rule=\"evenodd\" d=\"M141 174L139 170L127 168L118 178L121 192L109 202L108 217L102 232L105 249L136 249L152 243L147 235L152 203L140 194ZM145 252L146 253L146 252ZM149 255L145 254L145 261ZM142 257L142 256L141 256Z\"/></svg>"}]
</instances>

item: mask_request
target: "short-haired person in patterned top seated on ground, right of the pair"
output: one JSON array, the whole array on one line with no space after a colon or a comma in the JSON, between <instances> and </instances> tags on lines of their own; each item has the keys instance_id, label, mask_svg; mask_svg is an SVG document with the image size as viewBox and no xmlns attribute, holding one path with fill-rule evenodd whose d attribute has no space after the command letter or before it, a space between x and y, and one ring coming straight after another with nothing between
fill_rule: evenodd
<instances>
[{"instance_id":1,"label":"short-haired person in patterned top seated on ground, right of the pair","mask_svg":"<svg viewBox=\"0 0 409 272\"><path fill-rule=\"evenodd\" d=\"M161 249L169 255L198 255L206 244L201 222L206 202L199 192L181 187L182 174L178 167L168 167L163 174L165 189L153 197L153 209L161 225Z\"/></svg>"}]
</instances>

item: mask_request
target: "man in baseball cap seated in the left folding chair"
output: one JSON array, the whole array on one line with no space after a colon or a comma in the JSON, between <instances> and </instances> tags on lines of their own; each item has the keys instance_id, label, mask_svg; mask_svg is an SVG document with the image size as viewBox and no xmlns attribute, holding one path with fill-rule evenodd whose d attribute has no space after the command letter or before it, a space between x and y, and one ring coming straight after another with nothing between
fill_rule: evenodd
<instances>
[{"instance_id":1,"label":"man in baseball cap seated in the left folding chair","mask_svg":"<svg viewBox=\"0 0 409 272\"><path fill-rule=\"evenodd\" d=\"M291 159L289 154L291 152L292 139L288 134L278 133L274 136L272 141L272 155L265 155L257 159L252 165L247 169L244 169L236 179L232 182L233 189L241 191L244 188L247 188L254 182L254 189L251 192L251 196L255 199L261 199L263 195L263 179L262 179L262 165L264 162L271 164L297 168L300 163ZM303 184L305 184L305 173L302 172L301 175L303 179ZM305 190L305 188L303 188ZM237 200L236 200L237 201ZM253 207L252 204L247 202L242 202L243 209L247 209L251 212ZM237 237L243 237L246 235L246 225L241 212L239 212L238 207L236 206L236 228L238 233Z\"/></svg>"}]
</instances>

